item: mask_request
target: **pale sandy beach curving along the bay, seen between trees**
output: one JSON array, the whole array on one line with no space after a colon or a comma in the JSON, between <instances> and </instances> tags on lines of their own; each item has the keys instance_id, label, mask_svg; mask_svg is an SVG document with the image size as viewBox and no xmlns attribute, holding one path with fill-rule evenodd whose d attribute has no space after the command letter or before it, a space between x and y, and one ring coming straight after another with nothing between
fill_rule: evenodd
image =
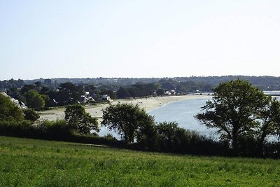
<instances>
[{"instance_id":1,"label":"pale sandy beach curving along the bay, seen between trees","mask_svg":"<svg viewBox=\"0 0 280 187\"><path fill-rule=\"evenodd\" d=\"M170 102L178 102L187 99L211 99L209 95L181 95L181 96L167 96L167 97L149 97L141 99L116 99L113 104L118 103L132 103L139 104L141 108L146 111L151 111L158 107L169 104ZM93 117L101 118L102 110L106 108L109 104L96 104L96 105L86 105L85 110L89 112ZM40 112L41 120L56 120L64 118L65 108L52 109L49 111Z\"/></svg>"}]
</instances>

